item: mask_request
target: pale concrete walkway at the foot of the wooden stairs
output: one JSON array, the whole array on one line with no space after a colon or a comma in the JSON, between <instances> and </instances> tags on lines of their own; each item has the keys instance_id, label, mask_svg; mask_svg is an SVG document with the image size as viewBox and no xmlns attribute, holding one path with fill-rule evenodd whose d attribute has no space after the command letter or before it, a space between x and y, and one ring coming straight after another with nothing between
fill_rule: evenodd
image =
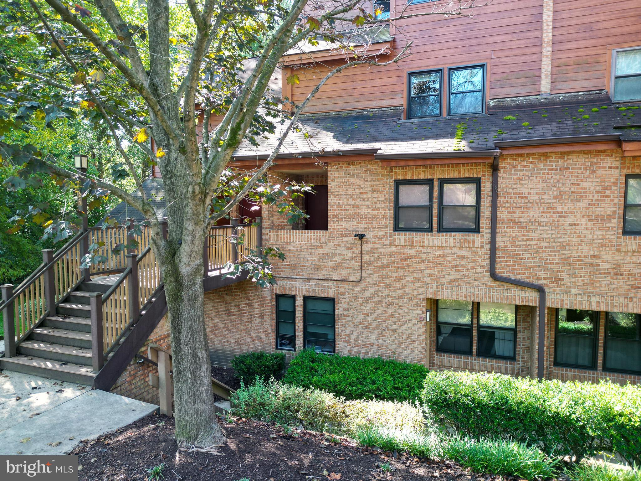
<instances>
[{"instance_id":1,"label":"pale concrete walkway at the foot of the wooden stairs","mask_svg":"<svg viewBox=\"0 0 641 481\"><path fill-rule=\"evenodd\" d=\"M157 406L89 386L0 371L0 455L60 455Z\"/></svg>"}]
</instances>

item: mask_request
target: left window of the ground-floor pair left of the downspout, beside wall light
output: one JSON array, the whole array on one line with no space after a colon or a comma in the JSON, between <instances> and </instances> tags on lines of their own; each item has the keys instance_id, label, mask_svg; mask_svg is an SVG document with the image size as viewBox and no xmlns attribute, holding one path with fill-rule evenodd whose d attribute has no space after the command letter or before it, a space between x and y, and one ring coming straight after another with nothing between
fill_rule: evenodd
<instances>
[{"instance_id":1,"label":"left window of the ground-floor pair left of the downspout, beside wall light","mask_svg":"<svg viewBox=\"0 0 641 481\"><path fill-rule=\"evenodd\" d=\"M437 351L472 354L472 301L437 301Z\"/></svg>"}]
</instances>

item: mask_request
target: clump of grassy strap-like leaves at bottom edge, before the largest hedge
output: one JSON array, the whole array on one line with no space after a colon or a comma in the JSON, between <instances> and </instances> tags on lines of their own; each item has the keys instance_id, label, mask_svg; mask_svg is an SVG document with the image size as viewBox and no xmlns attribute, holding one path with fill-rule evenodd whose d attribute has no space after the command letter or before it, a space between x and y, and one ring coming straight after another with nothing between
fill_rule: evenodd
<instances>
[{"instance_id":1,"label":"clump of grassy strap-like leaves at bottom edge, before the largest hedge","mask_svg":"<svg viewBox=\"0 0 641 481\"><path fill-rule=\"evenodd\" d=\"M553 478L559 467L559 460L547 459L538 448L505 439L452 437L442 444L441 455L476 473L527 480Z\"/></svg>"}]
</instances>

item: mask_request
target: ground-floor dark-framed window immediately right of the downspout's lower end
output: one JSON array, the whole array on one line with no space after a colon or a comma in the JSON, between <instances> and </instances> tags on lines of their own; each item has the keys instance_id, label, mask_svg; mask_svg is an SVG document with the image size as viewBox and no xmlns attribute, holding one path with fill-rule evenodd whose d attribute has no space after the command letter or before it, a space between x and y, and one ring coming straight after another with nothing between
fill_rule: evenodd
<instances>
[{"instance_id":1,"label":"ground-floor dark-framed window immediately right of the downspout's lower end","mask_svg":"<svg viewBox=\"0 0 641 481\"><path fill-rule=\"evenodd\" d=\"M595 369L599 311L556 310L554 365Z\"/></svg>"}]
</instances>

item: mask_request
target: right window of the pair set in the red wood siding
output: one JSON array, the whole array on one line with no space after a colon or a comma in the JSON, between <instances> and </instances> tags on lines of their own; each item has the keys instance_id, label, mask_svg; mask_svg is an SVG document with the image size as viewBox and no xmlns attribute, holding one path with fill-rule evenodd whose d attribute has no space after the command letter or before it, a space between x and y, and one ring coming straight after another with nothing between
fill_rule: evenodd
<instances>
[{"instance_id":1,"label":"right window of the pair set in the red wood siding","mask_svg":"<svg viewBox=\"0 0 641 481\"><path fill-rule=\"evenodd\" d=\"M485 67L461 67L449 70L449 115L483 113Z\"/></svg>"}]
</instances>

